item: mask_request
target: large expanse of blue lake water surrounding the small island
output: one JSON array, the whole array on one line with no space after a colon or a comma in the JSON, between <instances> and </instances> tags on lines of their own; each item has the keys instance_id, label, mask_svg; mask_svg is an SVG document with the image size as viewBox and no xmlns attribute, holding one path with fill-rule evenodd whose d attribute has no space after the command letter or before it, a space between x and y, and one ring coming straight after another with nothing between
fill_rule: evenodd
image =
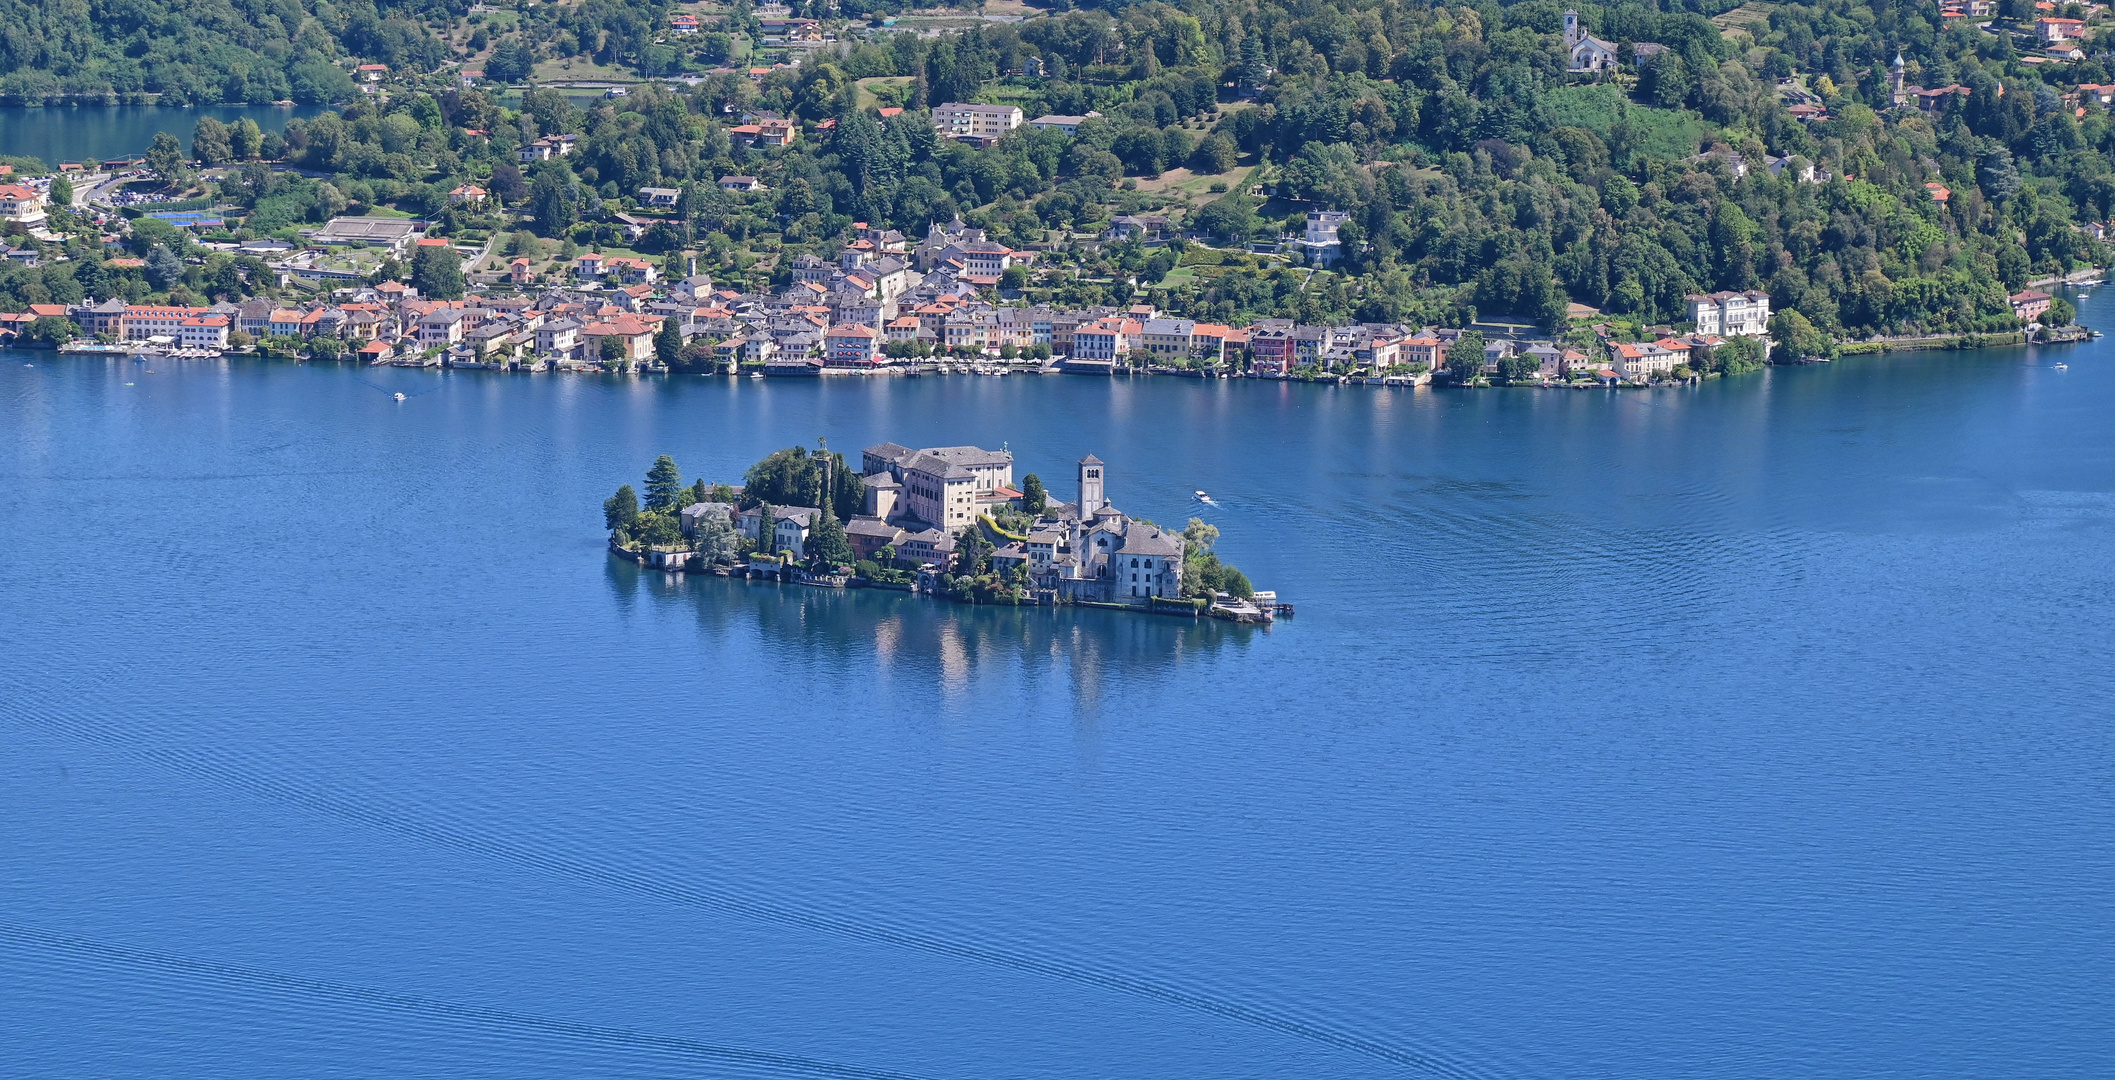
<instances>
[{"instance_id":1,"label":"large expanse of blue lake water surrounding the small island","mask_svg":"<svg viewBox=\"0 0 2115 1080\"><path fill-rule=\"evenodd\" d=\"M2109 1076L2111 410L6 353L0 1072ZM1091 450L1299 615L603 554L819 435Z\"/></svg>"}]
</instances>

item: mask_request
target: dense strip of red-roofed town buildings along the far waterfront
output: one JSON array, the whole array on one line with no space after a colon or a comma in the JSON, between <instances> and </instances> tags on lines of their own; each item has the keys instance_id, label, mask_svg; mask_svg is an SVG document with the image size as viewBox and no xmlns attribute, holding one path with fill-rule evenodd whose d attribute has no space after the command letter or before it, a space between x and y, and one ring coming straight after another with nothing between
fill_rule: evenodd
<instances>
[{"instance_id":1,"label":"dense strip of red-roofed town buildings along the far waterfront","mask_svg":"<svg viewBox=\"0 0 2115 1080\"><path fill-rule=\"evenodd\" d=\"M459 194L482 197L480 190ZM0 216L32 216L36 199L34 190L0 186ZM1301 243L1326 262L1339 226L1341 216L1316 211ZM1165 228L1165 222L1119 220L1110 228L1119 232L1112 239L1125 239L1132 230ZM332 249L372 249L400 264L463 258L450 241L427 237L419 220L334 218L305 239L309 247L300 249L283 241L243 241L233 249L266 260L283 279L324 283L330 273L319 256ZM264 351L508 372L814 376L971 368L1390 385L1421 385L1434 376L1457 385L1493 378L1650 385L1753 370L1772 349L1770 296L1760 290L1694 294L1684 325L1643 328L1643 340L1620 340L1626 334L1610 323L1588 323L1567 336L1533 336L1535 328L1506 323L1417 328L1258 319L1233 328L1170 317L1151 302L1123 309L1005 302L1000 283L1032 260L1034 252L1009 249L960 220L935 224L916 245L901 232L854 224L835 262L791 260L791 283L778 292L715 287L698 273L668 279L654 260L586 252L571 262L565 281L539 279L529 273L529 258L514 258L497 281L478 283L459 298L427 298L417 285L385 279L334 287L328 298L292 306L273 298L197 306L114 298L30 304L23 313L0 315L0 340L63 338L66 349L80 353L212 357ZM2054 296L2022 290L2009 302L2022 323L2039 330L2037 319ZM40 319L68 325L51 332L47 323L40 332Z\"/></svg>"}]
</instances>

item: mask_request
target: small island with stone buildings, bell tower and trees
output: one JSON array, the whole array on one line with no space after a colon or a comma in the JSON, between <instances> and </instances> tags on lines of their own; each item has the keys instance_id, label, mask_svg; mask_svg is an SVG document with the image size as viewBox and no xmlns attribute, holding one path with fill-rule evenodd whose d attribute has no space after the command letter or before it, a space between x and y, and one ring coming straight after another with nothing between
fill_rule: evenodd
<instances>
[{"instance_id":1,"label":"small island with stone buildings, bell tower and trees","mask_svg":"<svg viewBox=\"0 0 2115 1080\"><path fill-rule=\"evenodd\" d=\"M1273 592L1212 550L1218 528L1132 518L1108 499L1108 465L1074 463L1077 497L1013 482L1013 452L884 442L859 469L827 446L778 450L742 484L689 484L662 454L603 501L609 550L670 573L899 590L969 604L1083 604L1269 623Z\"/></svg>"}]
</instances>

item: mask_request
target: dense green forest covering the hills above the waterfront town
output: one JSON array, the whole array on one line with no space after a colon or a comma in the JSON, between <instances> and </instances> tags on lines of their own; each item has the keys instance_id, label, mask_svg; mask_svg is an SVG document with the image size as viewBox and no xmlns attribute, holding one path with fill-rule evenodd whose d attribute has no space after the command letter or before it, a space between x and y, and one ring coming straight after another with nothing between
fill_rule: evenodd
<instances>
[{"instance_id":1,"label":"dense green forest covering the hills above the waterfront town","mask_svg":"<svg viewBox=\"0 0 2115 1080\"><path fill-rule=\"evenodd\" d=\"M256 232L385 203L448 216L444 192L474 178L533 213L537 232L599 243L637 188L677 186L679 216L641 247L698 249L738 273L757 252L829 256L854 220L922 235L960 213L1003 243L1047 243L1051 230L1087 232L1165 203L1140 182L1172 169L1242 175L1233 169L1256 165L1263 194L1244 184L1184 201L1187 226L1231 245L1296 230L1307 209L1343 209L1341 273L1309 279L1195 247L1058 245L1026 296L1121 300L1180 256L1197 273L1161 290L1161 304L1218 321L1559 321L1571 302L1679 321L1686 294L1768 290L1798 325L1865 336L2009 330L2007 290L2104 262L2081 226L2115 209L2115 125L2094 95L2075 95L2115 70L2098 23L2083 61L2030 63L2041 57L2007 17L1990 30L1946 25L1935 4L1749 4L1741 15L1758 17L1726 32L1711 19L1724 2L1582 4L1582 23L1633 61L1635 74L1614 80L1565 70L1555 0L1146 0L939 36L831 21L842 49L761 80L721 70L594 108L554 91L503 108L438 78L383 101L336 82L349 59L436 68L465 53L472 42L436 32L461 30L457 11L209 0L178 19L154 0L125 0L104 4L102 19L63 19L63 4L4 2L0 80L104 80L201 101L351 99L237 154L326 173L231 178L222 194L256 211ZM641 74L702 74L723 49L654 34L664 8L651 4L512 15L499 38L474 44L522 70L580 53ZM738 4L721 32L753 23ZM1665 49L1635 61L1633 42ZM1895 108L1897 53L1908 82L1963 93L1933 112ZM1030 59L1038 76L1024 74ZM1827 116L1796 118L1794 97ZM1102 116L1077 137L1024 127L990 148L933 133L928 106L979 99L1028 116ZM886 101L903 112L882 118L873 106ZM749 150L728 129L753 114L810 127L791 148ZM577 133L580 152L514 165L516 146L558 131ZM1815 182L1802 180L1806 167ZM759 175L766 190L719 190L728 173Z\"/></svg>"}]
</instances>

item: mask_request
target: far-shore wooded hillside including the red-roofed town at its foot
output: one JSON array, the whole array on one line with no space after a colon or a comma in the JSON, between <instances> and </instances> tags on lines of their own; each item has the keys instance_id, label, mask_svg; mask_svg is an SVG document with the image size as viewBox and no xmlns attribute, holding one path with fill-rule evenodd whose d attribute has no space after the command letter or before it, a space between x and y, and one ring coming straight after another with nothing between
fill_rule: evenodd
<instances>
[{"instance_id":1,"label":"far-shore wooded hillside including the red-roofed town at its foot","mask_svg":"<svg viewBox=\"0 0 2115 1080\"><path fill-rule=\"evenodd\" d=\"M1986 6L1354 4L1351 51L1267 4L698 4L628 23L620 78L480 4L442 59L311 68L351 99L283 131L0 163L0 336L1453 385L2009 342L2107 262L2115 55L2100 6Z\"/></svg>"}]
</instances>

